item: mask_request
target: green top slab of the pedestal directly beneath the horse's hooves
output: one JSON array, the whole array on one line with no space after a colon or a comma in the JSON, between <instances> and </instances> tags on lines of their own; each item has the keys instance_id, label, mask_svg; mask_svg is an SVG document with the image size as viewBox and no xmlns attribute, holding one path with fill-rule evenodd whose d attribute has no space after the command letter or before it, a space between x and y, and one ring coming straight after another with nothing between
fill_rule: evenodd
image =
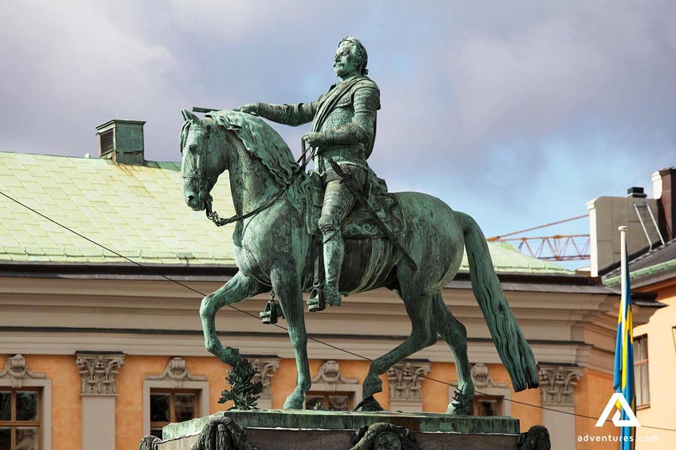
<instances>
[{"instance_id":1,"label":"green top slab of the pedestal directly beneath the horse's hooves","mask_svg":"<svg viewBox=\"0 0 676 450\"><path fill-rule=\"evenodd\" d=\"M213 417L227 416L247 428L358 430L378 422L393 423L410 431L518 435L518 419L512 417L451 416L432 412L340 412L316 410L265 410L217 412L208 417L170 423L162 429L164 440L200 433Z\"/></svg>"}]
</instances>

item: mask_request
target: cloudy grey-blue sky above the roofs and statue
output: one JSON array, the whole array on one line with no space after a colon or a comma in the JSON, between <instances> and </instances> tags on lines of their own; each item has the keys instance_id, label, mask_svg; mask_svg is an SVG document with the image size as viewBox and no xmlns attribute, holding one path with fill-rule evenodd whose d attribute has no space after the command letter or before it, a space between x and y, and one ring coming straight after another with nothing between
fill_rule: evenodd
<instances>
[{"instance_id":1,"label":"cloudy grey-blue sky above the roofs and statue","mask_svg":"<svg viewBox=\"0 0 676 450\"><path fill-rule=\"evenodd\" d=\"M182 108L314 100L353 35L381 88L369 163L487 236L676 165L673 1L1 3L0 151L95 154L95 126L137 119L146 159L178 160ZM307 127L275 128L299 153Z\"/></svg>"}]
</instances>

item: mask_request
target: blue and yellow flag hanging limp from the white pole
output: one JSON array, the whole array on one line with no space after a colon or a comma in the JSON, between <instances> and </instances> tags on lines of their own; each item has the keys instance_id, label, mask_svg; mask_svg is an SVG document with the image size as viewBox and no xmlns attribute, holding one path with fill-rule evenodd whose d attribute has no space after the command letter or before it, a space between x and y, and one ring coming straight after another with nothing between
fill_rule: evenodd
<instances>
[{"instance_id":1,"label":"blue and yellow flag hanging limp from the white pole","mask_svg":"<svg viewBox=\"0 0 676 450\"><path fill-rule=\"evenodd\" d=\"M624 240L624 239L623 239ZM620 301L620 314L617 317L617 341L615 343L615 377L613 384L615 392L622 396L631 405L631 410L636 414L636 384L633 377L633 322L631 320L631 289L629 286L629 264L627 264L627 243L622 243L622 300ZM620 420L628 420L620 402L617 402L620 410ZM620 450L633 450L636 440L636 428L623 426L620 434Z\"/></svg>"}]
</instances>

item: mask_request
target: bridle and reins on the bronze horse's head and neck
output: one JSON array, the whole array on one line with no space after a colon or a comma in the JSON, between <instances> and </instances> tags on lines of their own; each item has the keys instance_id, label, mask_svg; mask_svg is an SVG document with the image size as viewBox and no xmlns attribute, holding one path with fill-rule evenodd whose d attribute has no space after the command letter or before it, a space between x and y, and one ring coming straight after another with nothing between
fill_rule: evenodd
<instances>
[{"instance_id":1,"label":"bridle and reins on the bronze horse's head and neck","mask_svg":"<svg viewBox=\"0 0 676 450\"><path fill-rule=\"evenodd\" d=\"M312 147L308 147L307 149L305 148L305 141L301 140L302 142L302 155L300 155L300 158L296 160L296 164L300 163L302 160L302 165L298 167L298 171L293 174L293 177L291 177L291 180L289 180L289 183L286 183L286 186L284 188L280 189L279 192L277 192L275 195L273 195L269 200L266 200L263 204L261 204L259 207L254 209L253 211L249 211L248 213L243 214L242 216L232 216L229 218L221 218L218 216L218 213L212 209L212 202L213 202L213 197L211 197L211 194L209 193L209 188L208 186L213 186L216 183L216 177L209 177L206 173L206 155L208 151L208 144L209 144L209 132L210 132L210 126L199 126L199 125L193 125L197 130L204 130L203 133L203 142L200 142L199 145L197 144L192 144L190 147L192 148L193 145L197 146L197 169L193 170L189 175L183 175L183 179L190 179L190 180L197 180L197 186L198 190L197 193L199 195L200 200L204 202L206 205L205 211L206 211L206 216L209 220L211 220L217 227L222 227L223 225L229 225L230 223L233 222L238 222L240 220L245 220L251 216L256 215L257 213L263 211L264 209L268 209L272 204L277 202L282 195L286 192L286 189L293 184L293 181L298 177L299 174L302 172L305 172L305 166L307 165L308 161L311 160L314 157L314 152L316 149L312 149ZM308 150L313 150L309 156L309 158L306 158L306 154ZM180 149L181 153L183 153L183 148Z\"/></svg>"}]
</instances>

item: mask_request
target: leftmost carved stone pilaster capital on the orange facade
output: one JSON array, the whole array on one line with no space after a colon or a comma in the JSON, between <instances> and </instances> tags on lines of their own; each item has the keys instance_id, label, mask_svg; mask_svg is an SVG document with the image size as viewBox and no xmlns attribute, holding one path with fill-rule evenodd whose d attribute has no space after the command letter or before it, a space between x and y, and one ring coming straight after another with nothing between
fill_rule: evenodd
<instances>
[{"instance_id":1,"label":"leftmost carved stone pilaster capital on the orange facade","mask_svg":"<svg viewBox=\"0 0 676 450\"><path fill-rule=\"evenodd\" d=\"M81 396L114 396L115 375L124 365L124 354L76 353L75 363L82 378Z\"/></svg>"}]
</instances>

